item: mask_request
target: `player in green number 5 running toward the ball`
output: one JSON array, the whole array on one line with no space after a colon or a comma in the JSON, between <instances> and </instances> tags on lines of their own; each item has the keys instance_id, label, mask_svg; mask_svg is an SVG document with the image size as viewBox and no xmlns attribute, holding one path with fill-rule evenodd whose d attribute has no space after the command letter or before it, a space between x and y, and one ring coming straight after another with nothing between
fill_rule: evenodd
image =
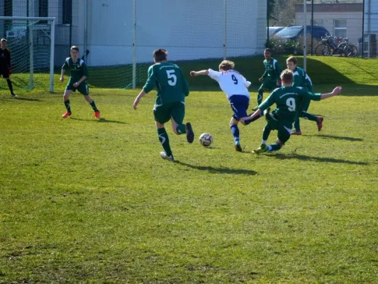
<instances>
[{"instance_id":1,"label":"player in green number 5 running toward the ball","mask_svg":"<svg viewBox=\"0 0 378 284\"><path fill-rule=\"evenodd\" d=\"M164 124L172 121L173 132L177 135L187 133L187 141L193 143L194 132L190 122L183 124L185 116L185 97L189 95L187 80L179 66L167 62L167 50L154 50L152 56L154 64L148 68L148 80L142 91L135 98L133 108L136 109L140 99L148 94L154 87L157 89L157 98L153 109L157 135L162 143L164 152L160 156L165 160L174 160L169 138Z\"/></svg>"}]
</instances>

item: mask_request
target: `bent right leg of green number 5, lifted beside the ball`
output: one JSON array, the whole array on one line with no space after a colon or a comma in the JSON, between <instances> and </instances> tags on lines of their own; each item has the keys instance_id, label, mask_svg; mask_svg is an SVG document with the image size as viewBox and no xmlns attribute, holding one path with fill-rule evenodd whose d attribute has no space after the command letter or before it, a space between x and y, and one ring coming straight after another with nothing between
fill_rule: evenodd
<instances>
[{"instance_id":1,"label":"bent right leg of green number 5, lifted beside the ball","mask_svg":"<svg viewBox=\"0 0 378 284\"><path fill-rule=\"evenodd\" d=\"M187 141L193 143L194 131L190 122L183 124L185 117L185 104L184 102L175 102L172 104L171 121L173 132L177 135L187 133Z\"/></svg>"}]
</instances>

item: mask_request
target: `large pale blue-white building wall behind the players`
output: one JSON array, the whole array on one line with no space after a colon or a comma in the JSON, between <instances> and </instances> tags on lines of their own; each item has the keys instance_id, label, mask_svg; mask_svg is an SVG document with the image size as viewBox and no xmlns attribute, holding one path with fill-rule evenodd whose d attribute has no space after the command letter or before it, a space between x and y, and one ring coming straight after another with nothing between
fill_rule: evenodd
<instances>
[{"instance_id":1,"label":"large pale blue-white building wall behind the players","mask_svg":"<svg viewBox=\"0 0 378 284\"><path fill-rule=\"evenodd\" d=\"M77 44L82 47L86 0L80 1ZM87 48L90 50L87 63L99 66L133 62L133 1L87 1ZM169 60L223 58L223 1L136 2L138 62L152 62L155 48L167 48ZM235 5L235 2L228 1L228 57L262 52L266 36L266 6L258 3L258 0L241 0Z\"/></svg>"}]
</instances>

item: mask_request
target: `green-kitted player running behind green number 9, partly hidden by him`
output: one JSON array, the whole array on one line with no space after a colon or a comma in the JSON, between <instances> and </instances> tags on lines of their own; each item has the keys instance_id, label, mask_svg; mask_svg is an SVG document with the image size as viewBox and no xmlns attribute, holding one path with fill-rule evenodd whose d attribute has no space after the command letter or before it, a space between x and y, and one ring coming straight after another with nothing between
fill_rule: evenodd
<instances>
[{"instance_id":1,"label":"green-kitted player running behind green number 9, partly hidden by him","mask_svg":"<svg viewBox=\"0 0 378 284\"><path fill-rule=\"evenodd\" d=\"M313 93L313 84L311 82L310 77L306 74L306 72L297 66L297 61L294 56L287 58L287 68L289 68L293 72L294 76L294 87L304 87L308 92ZM310 106L310 99L304 98L302 102L299 103L299 111L298 116L294 121L294 129L293 135L302 135L301 126L299 124L299 118L303 117L305 119L315 121L318 125L318 131L321 131L323 127L323 117L316 116L307 112L308 107Z\"/></svg>"}]
</instances>

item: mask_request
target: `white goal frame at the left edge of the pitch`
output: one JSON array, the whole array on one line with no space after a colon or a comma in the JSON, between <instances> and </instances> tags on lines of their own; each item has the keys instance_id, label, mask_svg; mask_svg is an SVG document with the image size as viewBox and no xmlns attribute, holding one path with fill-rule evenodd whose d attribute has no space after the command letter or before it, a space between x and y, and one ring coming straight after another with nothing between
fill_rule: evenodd
<instances>
[{"instance_id":1,"label":"white goal frame at the left edge of the pitch","mask_svg":"<svg viewBox=\"0 0 378 284\"><path fill-rule=\"evenodd\" d=\"M55 53L55 17L9 17L0 16L0 20L6 21L48 21L51 25L50 33L50 92L54 92L54 53ZM34 73L33 73L33 33L30 36L30 88L34 88Z\"/></svg>"}]
</instances>

